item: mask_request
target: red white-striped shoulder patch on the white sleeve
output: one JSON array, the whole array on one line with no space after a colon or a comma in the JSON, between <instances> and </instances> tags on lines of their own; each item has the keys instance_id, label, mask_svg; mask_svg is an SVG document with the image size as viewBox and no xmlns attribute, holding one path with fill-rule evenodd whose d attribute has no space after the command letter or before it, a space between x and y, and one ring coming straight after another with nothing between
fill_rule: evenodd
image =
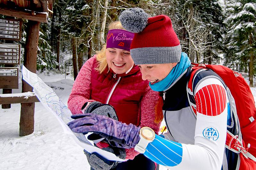
<instances>
[{"instance_id":1,"label":"red white-striped shoulder patch on the white sleeve","mask_svg":"<svg viewBox=\"0 0 256 170\"><path fill-rule=\"evenodd\" d=\"M196 111L207 116L217 116L226 108L225 89L218 84L210 84L198 90L195 95Z\"/></svg>"}]
</instances>

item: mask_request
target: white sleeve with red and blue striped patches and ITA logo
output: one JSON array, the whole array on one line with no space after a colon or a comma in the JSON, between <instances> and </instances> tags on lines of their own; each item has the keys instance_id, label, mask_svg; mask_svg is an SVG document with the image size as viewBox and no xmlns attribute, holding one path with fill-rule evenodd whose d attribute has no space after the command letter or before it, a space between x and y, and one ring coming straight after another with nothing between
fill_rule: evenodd
<instances>
[{"instance_id":1,"label":"white sleeve with red and blue striped patches and ITA logo","mask_svg":"<svg viewBox=\"0 0 256 170\"><path fill-rule=\"evenodd\" d=\"M198 85L195 100L195 143L178 143L156 135L146 147L146 157L172 170L221 169L227 133L227 92L221 81L208 78Z\"/></svg>"}]
</instances>

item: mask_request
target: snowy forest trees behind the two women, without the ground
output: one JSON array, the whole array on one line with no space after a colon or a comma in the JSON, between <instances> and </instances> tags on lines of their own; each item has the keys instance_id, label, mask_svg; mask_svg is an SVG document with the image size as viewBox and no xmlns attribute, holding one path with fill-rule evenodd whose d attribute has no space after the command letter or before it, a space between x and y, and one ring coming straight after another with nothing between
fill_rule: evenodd
<instances>
[{"instance_id":1,"label":"snowy forest trees behind the two women, without the ground","mask_svg":"<svg viewBox=\"0 0 256 170\"><path fill-rule=\"evenodd\" d=\"M192 62L248 73L253 87L256 0L54 0L52 17L40 24L37 70L73 74L75 79L84 62L104 45L108 24L134 7L150 16L168 15ZM23 20L23 47L27 22Z\"/></svg>"}]
</instances>

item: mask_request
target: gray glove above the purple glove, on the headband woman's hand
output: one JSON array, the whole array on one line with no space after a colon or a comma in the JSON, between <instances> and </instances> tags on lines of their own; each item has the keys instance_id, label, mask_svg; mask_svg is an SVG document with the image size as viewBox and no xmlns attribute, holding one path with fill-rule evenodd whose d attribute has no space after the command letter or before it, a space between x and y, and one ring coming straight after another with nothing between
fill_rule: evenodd
<instances>
[{"instance_id":1,"label":"gray glove above the purple glove, on the headband woman's hand","mask_svg":"<svg viewBox=\"0 0 256 170\"><path fill-rule=\"evenodd\" d=\"M110 117L114 120L118 120L116 115L116 110L113 106L109 104L102 104L100 102L94 101L89 104L89 106L84 110L84 113L93 113L95 115L103 115Z\"/></svg>"}]
</instances>

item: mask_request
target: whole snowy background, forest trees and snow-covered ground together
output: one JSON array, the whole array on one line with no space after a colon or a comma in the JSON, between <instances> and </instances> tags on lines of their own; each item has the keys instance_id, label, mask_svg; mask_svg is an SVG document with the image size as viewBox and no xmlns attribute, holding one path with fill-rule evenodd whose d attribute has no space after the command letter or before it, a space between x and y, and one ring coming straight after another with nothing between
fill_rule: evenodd
<instances>
[{"instance_id":1,"label":"whole snowy background, forest trees and snow-covered ground together","mask_svg":"<svg viewBox=\"0 0 256 170\"><path fill-rule=\"evenodd\" d=\"M47 24L40 23L36 74L61 99L56 101L67 105L79 70L105 44L108 25L118 20L125 9L136 7L142 8L151 17L160 14L169 16L182 51L188 54L192 62L220 64L243 72L256 101L256 0L51 2L53 13ZM8 16L0 15L1 18ZM15 42L21 44L20 70L26 37L31 33L28 27L29 21L22 19L21 41ZM0 39L1 43L10 42ZM7 66L0 64L0 67ZM13 95L22 93L21 72L17 81L19 89L12 89ZM2 92L0 89L2 96L12 95ZM27 100L28 96L23 99ZM91 169L84 148L65 133L56 113L49 111L43 102L34 103L33 117L24 116L20 103L12 103L10 107L0 109L1 170ZM21 115L26 120L33 120L31 134L20 136ZM163 121L160 127L164 127L164 124ZM167 168L160 165L159 170Z\"/></svg>"}]
</instances>

